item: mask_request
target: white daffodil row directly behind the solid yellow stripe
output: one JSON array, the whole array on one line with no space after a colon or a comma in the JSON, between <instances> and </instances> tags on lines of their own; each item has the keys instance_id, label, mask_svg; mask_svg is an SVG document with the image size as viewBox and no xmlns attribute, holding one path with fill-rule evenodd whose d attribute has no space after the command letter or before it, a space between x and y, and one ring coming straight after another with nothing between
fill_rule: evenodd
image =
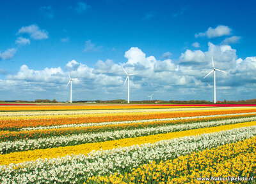
<instances>
[{"instance_id":1,"label":"white daffodil row directly behind the solid yellow stripe","mask_svg":"<svg viewBox=\"0 0 256 184\"><path fill-rule=\"evenodd\" d=\"M50 138L23 139L20 141L5 141L0 143L0 153L22 152L27 150L54 148L58 146L73 146L85 143L97 143L124 138L135 138L155 134L166 134L168 132L187 131L191 129L202 129L205 127L216 127L220 125L238 124L241 122L256 121L256 117L237 118L212 122L200 122L193 124L166 125L149 127L145 129L122 130L114 132L98 132L92 134L75 134L71 136L52 136Z\"/></svg>"}]
</instances>

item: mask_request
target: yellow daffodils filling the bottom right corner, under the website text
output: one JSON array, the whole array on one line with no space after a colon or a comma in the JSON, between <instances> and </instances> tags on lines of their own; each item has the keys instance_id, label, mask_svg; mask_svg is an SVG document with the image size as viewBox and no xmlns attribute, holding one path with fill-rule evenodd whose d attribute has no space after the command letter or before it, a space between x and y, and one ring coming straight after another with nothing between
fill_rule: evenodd
<instances>
[{"instance_id":1,"label":"yellow daffodils filling the bottom right corner, under the website text","mask_svg":"<svg viewBox=\"0 0 256 184\"><path fill-rule=\"evenodd\" d=\"M124 175L93 176L86 183L196 183L196 180L200 183L205 180L217 182L232 179L236 183L242 180L252 183L256 180L255 174L256 137L253 137L173 160L153 161Z\"/></svg>"}]
</instances>

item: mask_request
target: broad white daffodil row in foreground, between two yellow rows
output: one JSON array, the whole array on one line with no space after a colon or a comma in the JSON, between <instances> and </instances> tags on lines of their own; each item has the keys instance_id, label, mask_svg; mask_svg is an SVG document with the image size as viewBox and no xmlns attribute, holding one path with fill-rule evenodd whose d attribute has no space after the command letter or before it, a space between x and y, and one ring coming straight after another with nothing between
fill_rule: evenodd
<instances>
[{"instance_id":1,"label":"broad white daffodil row in foreground, between two yellow rows","mask_svg":"<svg viewBox=\"0 0 256 184\"><path fill-rule=\"evenodd\" d=\"M132 145L129 147L98 150L87 155L67 155L54 159L0 166L1 183L83 183L90 176L124 174L134 167L150 162L175 159L182 155L211 149L256 136L256 126L213 132Z\"/></svg>"}]
</instances>

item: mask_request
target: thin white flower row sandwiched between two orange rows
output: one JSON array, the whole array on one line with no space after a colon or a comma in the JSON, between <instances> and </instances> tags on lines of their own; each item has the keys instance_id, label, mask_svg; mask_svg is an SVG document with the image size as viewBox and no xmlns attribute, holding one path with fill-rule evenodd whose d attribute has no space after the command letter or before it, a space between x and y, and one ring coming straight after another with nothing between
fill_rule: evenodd
<instances>
[{"instance_id":1,"label":"thin white flower row sandwiched between two orange rows","mask_svg":"<svg viewBox=\"0 0 256 184\"><path fill-rule=\"evenodd\" d=\"M57 126L42 126L42 127L25 127L20 129L20 131L34 131L34 130L44 130L44 129L61 129L61 128L70 128L70 127L93 127L93 126L102 126L102 125L117 125L117 124L133 124L133 123L142 123L142 122L159 122L159 121L173 121L173 120L188 120L193 118L210 118L210 117L228 117L228 116L237 116L237 115L246 115L244 117L249 117L250 115L256 115L256 112L252 113L232 113L224 115L208 115L208 116L196 116L196 117L178 117L178 118L160 118L160 119L149 119L149 120L133 120L133 121L120 121L120 122L102 122L102 123L88 123L88 124L65 124ZM232 117L228 117L232 118ZM237 118L237 117L234 117Z\"/></svg>"}]
</instances>

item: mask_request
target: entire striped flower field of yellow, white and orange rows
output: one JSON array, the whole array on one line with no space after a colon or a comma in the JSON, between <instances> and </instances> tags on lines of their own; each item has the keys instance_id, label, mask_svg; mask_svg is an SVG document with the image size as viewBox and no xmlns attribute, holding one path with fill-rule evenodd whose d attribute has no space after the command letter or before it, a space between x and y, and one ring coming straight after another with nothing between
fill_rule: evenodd
<instances>
[{"instance_id":1,"label":"entire striped flower field of yellow, white and orange rows","mask_svg":"<svg viewBox=\"0 0 256 184\"><path fill-rule=\"evenodd\" d=\"M256 105L0 104L0 183L256 183Z\"/></svg>"}]
</instances>

